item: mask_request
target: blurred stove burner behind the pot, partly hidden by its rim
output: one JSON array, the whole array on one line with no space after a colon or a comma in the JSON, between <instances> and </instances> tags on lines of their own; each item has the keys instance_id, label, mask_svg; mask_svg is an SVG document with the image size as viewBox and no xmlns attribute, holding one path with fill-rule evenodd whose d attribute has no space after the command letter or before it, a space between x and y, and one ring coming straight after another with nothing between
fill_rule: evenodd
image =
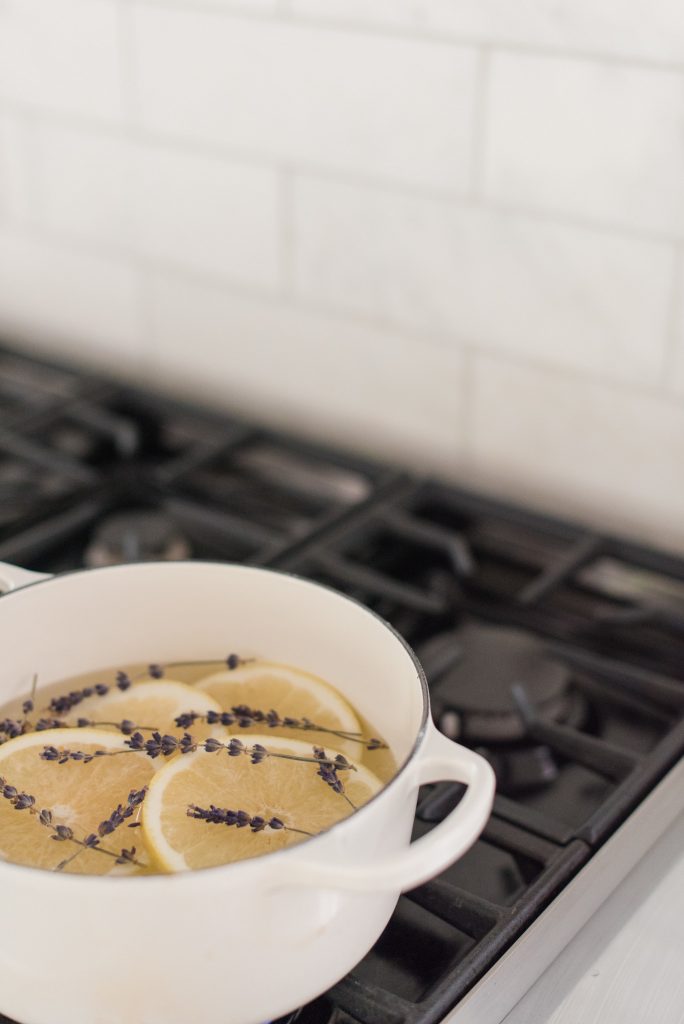
<instances>
[{"instance_id":1,"label":"blurred stove burner behind the pot, partly hidden by its rim","mask_svg":"<svg viewBox=\"0 0 684 1024\"><path fill-rule=\"evenodd\" d=\"M90 568L122 562L177 561L193 549L176 524L163 512L132 509L108 518L97 527L85 552Z\"/></svg>"}]
</instances>

